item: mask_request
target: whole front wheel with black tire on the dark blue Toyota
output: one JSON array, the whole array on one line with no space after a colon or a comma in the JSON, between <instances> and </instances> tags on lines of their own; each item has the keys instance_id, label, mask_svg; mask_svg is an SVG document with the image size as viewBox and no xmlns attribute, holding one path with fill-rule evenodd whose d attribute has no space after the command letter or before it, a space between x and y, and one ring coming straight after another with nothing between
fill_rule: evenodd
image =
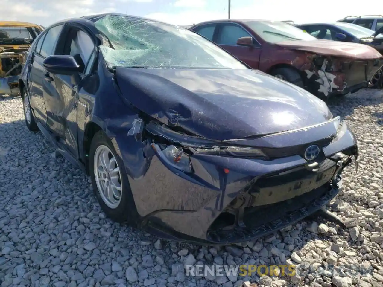
<instances>
[{"instance_id":1,"label":"whole front wheel with black tire on the dark blue Toyota","mask_svg":"<svg viewBox=\"0 0 383 287\"><path fill-rule=\"evenodd\" d=\"M102 130L90 145L89 173L93 192L105 214L115 222L133 221L135 205L124 163Z\"/></svg>"}]
</instances>

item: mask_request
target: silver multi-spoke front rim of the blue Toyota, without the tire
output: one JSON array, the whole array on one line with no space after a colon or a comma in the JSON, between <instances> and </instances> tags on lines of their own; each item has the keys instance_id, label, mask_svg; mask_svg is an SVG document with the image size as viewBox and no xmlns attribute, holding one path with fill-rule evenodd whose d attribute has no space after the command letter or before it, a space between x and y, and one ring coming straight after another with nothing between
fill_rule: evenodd
<instances>
[{"instance_id":1,"label":"silver multi-spoke front rim of the blue Toyota, without the tire","mask_svg":"<svg viewBox=\"0 0 383 287\"><path fill-rule=\"evenodd\" d=\"M117 208L121 202L121 175L113 152L105 145L97 147L93 169L102 200L111 209Z\"/></svg>"}]
</instances>

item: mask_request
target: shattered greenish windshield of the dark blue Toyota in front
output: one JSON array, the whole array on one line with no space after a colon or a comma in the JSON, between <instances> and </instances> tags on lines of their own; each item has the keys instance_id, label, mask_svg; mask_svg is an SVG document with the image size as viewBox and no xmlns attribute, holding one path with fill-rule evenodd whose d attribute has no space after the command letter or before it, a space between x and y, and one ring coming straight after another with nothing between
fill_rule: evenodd
<instances>
[{"instance_id":1,"label":"shattered greenish windshield of the dark blue Toyota in front","mask_svg":"<svg viewBox=\"0 0 383 287\"><path fill-rule=\"evenodd\" d=\"M106 15L95 26L113 45L100 46L110 68L247 69L212 42L178 26L115 15Z\"/></svg>"}]
</instances>

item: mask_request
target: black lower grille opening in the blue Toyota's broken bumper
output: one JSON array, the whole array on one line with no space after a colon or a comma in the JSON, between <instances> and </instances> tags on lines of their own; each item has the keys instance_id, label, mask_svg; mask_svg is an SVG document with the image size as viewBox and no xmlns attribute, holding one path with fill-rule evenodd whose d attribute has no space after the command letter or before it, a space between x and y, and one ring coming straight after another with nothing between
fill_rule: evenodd
<instances>
[{"instance_id":1,"label":"black lower grille opening in the blue Toyota's broken bumper","mask_svg":"<svg viewBox=\"0 0 383 287\"><path fill-rule=\"evenodd\" d=\"M249 205L243 209L243 225L237 222L234 199L209 228L209 240L241 241L279 230L320 209L338 192L331 179L337 171L335 156L322 161L316 170L305 167L269 174L250 183L244 190ZM242 207L243 208L243 207Z\"/></svg>"}]
</instances>

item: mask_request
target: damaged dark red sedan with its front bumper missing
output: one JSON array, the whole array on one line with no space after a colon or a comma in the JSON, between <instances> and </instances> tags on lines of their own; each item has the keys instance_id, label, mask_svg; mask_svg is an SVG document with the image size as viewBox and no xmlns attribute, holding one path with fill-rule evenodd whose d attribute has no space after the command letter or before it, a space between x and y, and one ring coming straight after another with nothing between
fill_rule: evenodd
<instances>
[{"instance_id":1,"label":"damaged dark red sedan with its front bumper missing","mask_svg":"<svg viewBox=\"0 0 383 287\"><path fill-rule=\"evenodd\" d=\"M326 100L367 87L383 56L357 43L319 40L282 21L214 20L190 28L253 69Z\"/></svg>"}]
</instances>

